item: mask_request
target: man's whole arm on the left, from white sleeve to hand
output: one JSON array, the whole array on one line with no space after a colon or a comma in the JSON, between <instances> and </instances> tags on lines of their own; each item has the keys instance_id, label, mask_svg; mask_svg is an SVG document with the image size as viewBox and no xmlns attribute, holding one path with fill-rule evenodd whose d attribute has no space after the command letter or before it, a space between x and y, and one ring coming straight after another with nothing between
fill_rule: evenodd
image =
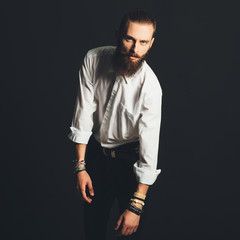
<instances>
[{"instance_id":1,"label":"man's whole arm on the left, from white sleeve to hand","mask_svg":"<svg viewBox=\"0 0 240 240\"><path fill-rule=\"evenodd\" d=\"M93 60L90 51L86 54L83 64L79 70L79 89L76 98L73 114L71 132L68 135L70 140L76 144L76 160L85 160L87 143L92 135L93 113L96 110L93 88ZM81 164L78 164L81 167ZM86 195L88 187L91 196L94 195L92 181L86 170L77 173L77 189L88 203L92 199Z\"/></svg>"}]
</instances>

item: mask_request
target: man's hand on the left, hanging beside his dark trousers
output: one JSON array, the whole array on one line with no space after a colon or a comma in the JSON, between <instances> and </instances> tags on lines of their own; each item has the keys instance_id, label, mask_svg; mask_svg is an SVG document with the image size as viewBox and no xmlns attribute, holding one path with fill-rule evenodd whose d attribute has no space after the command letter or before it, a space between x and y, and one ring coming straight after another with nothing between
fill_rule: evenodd
<instances>
[{"instance_id":1,"label":"man's hand on the left, hanging beside his dark trousers","mask_svg":"<svg viewBox=\"0 0 240 240\"><path fill-rule=\"evenodd\" d=\"M94 196L92 180L86 171L77 173L77 190L82 194L84 201L91 203L92 199L86 194L86 187L88 187L90 195Z\"/></svg>"}]
</instances>

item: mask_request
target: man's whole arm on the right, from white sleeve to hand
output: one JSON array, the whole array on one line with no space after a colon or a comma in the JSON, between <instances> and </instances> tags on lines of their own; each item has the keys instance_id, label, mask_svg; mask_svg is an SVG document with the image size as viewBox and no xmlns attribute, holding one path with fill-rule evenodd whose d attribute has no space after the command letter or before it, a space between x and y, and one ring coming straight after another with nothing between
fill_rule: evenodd
<instances>
[{"instance_id":1,"label":"man's whole arm on the right, from white sleeve to hand","mask_svg":"<svg viewBox=\"0 0 240 240\"><path fill-rule=\"evenodd\" d=\"M134 172L139 182L136 192L143 195L147 194L149 185L154 183L160 173L160 170L156 170L156 166L161 122L161 93L158 81L153 81L148 85L147 89L145 89L146 95L142 105L142 116L138 123L140 158L134 164ZM132 204L142 209L140 203L134 202ZM139 215L125 210L120 216L115 229L118 230L122 224L121 234L130 235L136 232L139 220Z\"/></svg>"}]
</instances>

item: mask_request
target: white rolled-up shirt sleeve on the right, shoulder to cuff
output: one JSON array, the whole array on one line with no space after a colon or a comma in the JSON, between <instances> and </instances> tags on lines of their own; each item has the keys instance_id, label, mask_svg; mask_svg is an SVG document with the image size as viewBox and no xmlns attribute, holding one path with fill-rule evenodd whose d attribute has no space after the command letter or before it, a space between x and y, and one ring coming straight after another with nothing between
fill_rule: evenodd
<instances>
[{"instance_id":1,"label":"white rolled-up shirt sleeve on the right, shoulder to cuff","mask_svg":"<svg viewBox=\"0 0 240 240\"><path fill-rule=\"evenodd\" d=\"M134 164L138 182L152 185L161 170L157 169L159 134L161 123L162 91L159 84L154 85L153 91L148 89L142 104L139 119L139 160Z\"/></svg>"}]
</instances>

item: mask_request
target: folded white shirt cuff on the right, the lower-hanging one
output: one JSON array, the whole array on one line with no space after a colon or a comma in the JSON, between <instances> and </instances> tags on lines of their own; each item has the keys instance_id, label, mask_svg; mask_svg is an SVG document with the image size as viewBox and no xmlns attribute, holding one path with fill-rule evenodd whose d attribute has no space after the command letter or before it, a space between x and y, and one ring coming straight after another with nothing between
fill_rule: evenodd
<instances>
[{"instance_id":1,"label":"folded white shirt cuff on the right, the lower-hanging one","mask_svg":"<svg viewBox=\"0 0 240 240\"><path fill-rule=\"evenodd\" d=\"M133 171L136 175L137 181L147 185L152 185L161 172L160 169L152 171L144 167L139 167L137 162L133 165Z\"/></svg>"}]
</instances>

